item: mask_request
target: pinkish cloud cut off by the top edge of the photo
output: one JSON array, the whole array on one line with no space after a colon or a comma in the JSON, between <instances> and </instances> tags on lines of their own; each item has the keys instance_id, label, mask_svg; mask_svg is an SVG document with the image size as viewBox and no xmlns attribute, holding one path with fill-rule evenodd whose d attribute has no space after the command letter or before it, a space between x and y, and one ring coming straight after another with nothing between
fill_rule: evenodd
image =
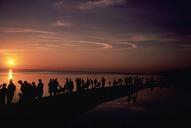
<instances>
[{"instance_id":1,"label":"pinkish cloud cut off by the top edge of the photo","mask_svg":"<svg viewBox=\"0 0 191 128\"><path fill-rule=\"evenodd\" d=\"M89 0L85 3L80 3L78 9L80 10L91 10L95 8L107 8L111 6L123 5L126 0Z\"/></svg>"}]
</instances>

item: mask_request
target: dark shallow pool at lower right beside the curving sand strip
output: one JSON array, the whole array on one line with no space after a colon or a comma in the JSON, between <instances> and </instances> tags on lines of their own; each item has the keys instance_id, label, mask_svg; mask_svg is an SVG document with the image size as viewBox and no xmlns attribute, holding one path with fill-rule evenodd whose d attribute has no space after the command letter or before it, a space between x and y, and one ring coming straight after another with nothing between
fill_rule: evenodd
<instances>
[{"instance_id":1,"label":"dark shallow pool at lower right beside the curving sand strip","mask_svg":"<svg viewBox=\"0 0 191 128\"><path fill-rule=\"evenodd\" d=\"M190 97L189 90L146 89L139 93L135 104L127 104L127 97L108 102L73 121L71 127L190 127Z\"/></svg>"}]
</instances>

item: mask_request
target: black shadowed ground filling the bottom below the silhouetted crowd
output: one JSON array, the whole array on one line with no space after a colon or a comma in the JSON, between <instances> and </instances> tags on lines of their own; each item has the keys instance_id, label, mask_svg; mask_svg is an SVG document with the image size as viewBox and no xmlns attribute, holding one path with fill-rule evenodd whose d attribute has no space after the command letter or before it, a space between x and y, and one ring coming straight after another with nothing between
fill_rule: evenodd
<instances>
[{"instance_id":1,"label":"black shadowed ground filling the bottom below the silhouetted crowd","mask_svg":"<svg viewBox=\"0 0 191 128\"><path fill-rule=\"evenodd\" d=\"M126 96L125 88L115 88L120 92L120 97ZM124 90L124 93L123 91ZM189 127L191 114L191 93L189 89L180 89L177 87L162 88L161 93L159 87L141 90L138 94L137 102L134 104L125 103L124 97L120 106L101 107L99 104L119 97L119 94L114 93L110 97L112 90L101 91L100 94L91 95L88 92L84 94L71 94L70 98L51 97L43 99L43 102L36 102L35 105L13 105L1 109L2 124L13 125L11 122L24 126L52 126L69 127L69 128L97 128L97 127ZM163 91L168 90L168 91ZM114 91L114 90L113 90ZM146 99L141 93L152 92L152 95L147 95ZM170 93L169 93L170 92ZM167 93L167 94L166 94ZM87 95L88 94L88 95ZM104 96L108 95L107 98ZM155 95L161 98L155 98ZM88 96L88 97L87 97ZM154 98L153 98L154 97ZM83 100L81 100L84 99ZM94 98L94 100L92 100ZM142 98L142 100L139 100ZM56 100L55 100L56 99ZM102 100L98 100L102 99ZM153 100L154 99L154 100ZM52 100L50 102L50 100ZM95 102L96 101L96 102ZM115 102L115 101L114 101ZM49 103L49 104L47 104ZM109 103L109 102L108 102ZM125 106L124 106L125 105ZM38 107L37 107L38 106ZM49 106L49 107L47 107ZM98 106L96 109L96 106ZM13 108L12 108L13 107ZM146 109L145 109L146 108ZM10 111L11 110L11 111ZM17 111L15 111L17 110ZM89 111L90 110L90 111ZM89 111L89 112L87 112ZM7 113L8 112L8 113ZM7 123L8 122L8 123ZM24 123L23 123L24 122Z\"/></svg>"}]
</instances>

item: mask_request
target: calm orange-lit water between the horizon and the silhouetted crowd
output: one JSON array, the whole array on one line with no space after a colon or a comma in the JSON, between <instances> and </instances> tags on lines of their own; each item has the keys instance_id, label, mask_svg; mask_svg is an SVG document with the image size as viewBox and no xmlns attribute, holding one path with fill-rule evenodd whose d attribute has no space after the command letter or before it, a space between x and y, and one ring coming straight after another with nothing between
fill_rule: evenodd
<instances>
[{"instance_id":1,"label":"calm orange-lit water between the horizon and the silhouetted crowd","mask_svg":"<svg viewBox=\"0 0 191 128\"><path fill-rule=\"evenodd\" d=\"M14 71L7 71L7 72L0 72L0 85L2 83L7 83L10 78L13 79L13 82L16 85L16 93L14 97L14 102L18 101L18 93L20 92L20 86L18 84L18 80L27 80L28 82L35 82L38 83L38 79L41 78L44 83L44 96L48 96L48 82L49 79L57 78L59 81L59 84L61 86L64 85L66 78L71 78L74 81L76 78L97 78L98 80L101 80L102 77L105 77L106 79L106 86L109 86L109 82L113 82L113 80L117 80L119 78L124 79L128 75L124 74L107 74L107 73L69 73L69 72L14 72ZM150 77L150 76L140 76L140 77ZM74 91L76 90L74 86Z\"/></svg>"}]
</instances>

